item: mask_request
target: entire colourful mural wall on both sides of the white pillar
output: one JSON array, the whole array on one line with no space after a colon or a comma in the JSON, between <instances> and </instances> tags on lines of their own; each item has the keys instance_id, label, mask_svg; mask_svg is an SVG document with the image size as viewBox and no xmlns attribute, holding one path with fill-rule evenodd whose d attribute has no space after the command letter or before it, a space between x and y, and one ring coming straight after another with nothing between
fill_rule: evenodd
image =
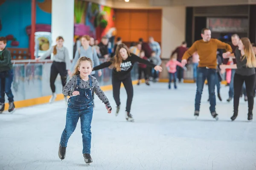
<instances>
[{"instance_id":1,"label":"entire colourful mural wall on both sides of the white pillar","mask_svg":"<svg viewBox=\"0 0 256 170\"><path fill-rule=\"evenodd\" d=\"M36 0L36 31L51 29L52 0ZM98 40L116 35L114 10L83 0L75 0L74 40L89 34ZM7 37L7 47L29 48L31 0L0 0L0 36Z\"/></svg>"}]
</instances>

